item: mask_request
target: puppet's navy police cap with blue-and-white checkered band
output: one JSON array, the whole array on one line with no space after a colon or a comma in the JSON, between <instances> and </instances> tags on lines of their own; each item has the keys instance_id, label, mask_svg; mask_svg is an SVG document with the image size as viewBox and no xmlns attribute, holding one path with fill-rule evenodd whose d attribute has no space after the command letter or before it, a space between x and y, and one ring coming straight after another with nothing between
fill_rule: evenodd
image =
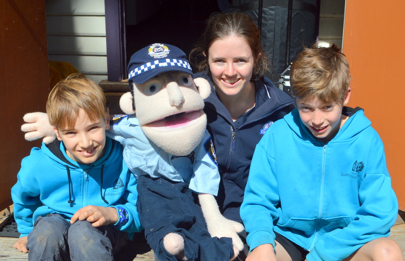
<instances>
[{"instance_id":1,"label":"puppet's navy police cap with blue-and-white checkered band","mask_svg":"<svg viewBox=\"0 0 405 261\"><path fill-rule=\"evenodd\" d=\"M128 81L142 84L165 71L183 71L194 76L182 50L173 45L152 44L132 55Z\"/></svg>"}]
</instances>

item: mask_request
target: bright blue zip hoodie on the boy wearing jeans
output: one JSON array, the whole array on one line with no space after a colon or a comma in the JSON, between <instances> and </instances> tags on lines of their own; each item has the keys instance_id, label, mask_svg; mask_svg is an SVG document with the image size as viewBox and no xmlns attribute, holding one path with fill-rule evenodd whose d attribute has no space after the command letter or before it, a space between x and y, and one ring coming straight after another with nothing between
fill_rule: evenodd
<instances>
[{"instance_id":1,"label":"bright blue zip hoodie on the boy wearing jeans","mask_svg":"<svg viewBox=\"0 0 405 261\"><path fill-rule=\"evenodd\" d=\"M59 213L70 220L88 205L127 210L128 222L118 221L115 228L127 232L130 239L142 230L136 209L136 179L123 160L123 147L107 137L105 149L100 159L87 165L71 160L58 140L42 143L41 149L32 148L11 189L21 237L31 232L38 216Z\"/></svg>"}]
</instances>

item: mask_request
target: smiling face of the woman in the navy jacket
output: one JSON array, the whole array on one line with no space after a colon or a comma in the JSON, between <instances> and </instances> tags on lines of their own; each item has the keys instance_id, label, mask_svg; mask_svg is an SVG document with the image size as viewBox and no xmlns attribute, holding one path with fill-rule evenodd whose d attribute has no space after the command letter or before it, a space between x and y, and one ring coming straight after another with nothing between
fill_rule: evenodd
<instances>
[{"instance_id":1,"label":"smiling face of the woman in the navy jacket","mask_svg":"<svg viewBox=\"0 0 405 261\"><path fill-rule=\"evenodd\" d=\"M216 92L232 96L242 93L249 84L255 58L242 36L231 35L212 43L208 65Z\"/></svg>"}]
</instances>

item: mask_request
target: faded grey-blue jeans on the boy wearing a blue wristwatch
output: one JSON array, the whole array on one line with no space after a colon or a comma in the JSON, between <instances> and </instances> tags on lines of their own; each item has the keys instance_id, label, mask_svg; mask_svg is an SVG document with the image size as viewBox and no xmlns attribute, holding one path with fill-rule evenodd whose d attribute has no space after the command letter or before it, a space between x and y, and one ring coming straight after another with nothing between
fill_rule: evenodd
<instances>
[{"instance_id":1,"label":"faded grey-blue jeans on the boy wearing a blue wristwatch","mask_svg":"<svg viewBox=\"0 0 405 261\"><path fill-rule=\"evenodd\" d=\"M114 260L129 238L112 225L94 228L87 220L72 225L59 214L35 219L28 234L28 260Z\"/></svg>"}]
</instances>

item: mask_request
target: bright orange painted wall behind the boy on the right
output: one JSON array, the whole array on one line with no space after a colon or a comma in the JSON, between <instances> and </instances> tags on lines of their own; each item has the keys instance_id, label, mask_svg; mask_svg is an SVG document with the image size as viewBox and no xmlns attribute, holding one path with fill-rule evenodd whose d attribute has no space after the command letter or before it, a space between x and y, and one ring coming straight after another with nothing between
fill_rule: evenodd
<instances>
[{"instance_id":1,"label":"bright orange painted wall behind the boy on the right","mask_svg":"<svg viewBox=\"0 0 405 261\"><path fill-rule=\"evenodd\" d=\"M343 53L360 106L380 134L392 187L405 210L405 1L347 0Z\"/></svg>"}]
</instances>

